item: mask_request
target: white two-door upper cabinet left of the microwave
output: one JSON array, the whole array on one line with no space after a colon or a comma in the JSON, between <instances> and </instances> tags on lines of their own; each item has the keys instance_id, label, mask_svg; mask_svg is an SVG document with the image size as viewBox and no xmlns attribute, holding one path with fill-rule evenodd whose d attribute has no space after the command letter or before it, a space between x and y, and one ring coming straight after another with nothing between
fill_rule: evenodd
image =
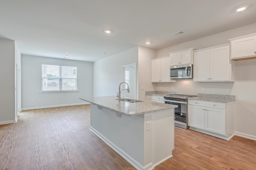
<instances>
[{"instance_id":1,"label":"white two-door upper cabinet left of the microwave","mask_svg":"<svg viewBox=\"0 0 256 170\"><path fill-rule=\"evenodd\" d=\"M151 61L151 82L176 82L170 79L170 57Z\"/></svg>"}]
</instances>

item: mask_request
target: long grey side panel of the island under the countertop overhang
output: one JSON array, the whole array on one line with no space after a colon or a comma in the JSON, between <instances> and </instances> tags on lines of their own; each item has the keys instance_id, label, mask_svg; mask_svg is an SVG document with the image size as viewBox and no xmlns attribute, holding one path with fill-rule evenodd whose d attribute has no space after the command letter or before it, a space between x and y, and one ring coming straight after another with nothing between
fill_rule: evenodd
<instances>
[{"instance_id":1,"label":"long grey side panel of the island under the countertop overhang","mask_svg":"<svg viewBox=\"0 0 256 170\"><path fill-rule=\"evenodd\" d=\"M144 169L144 116L116 117L114 111L91 104L90 117L90 129L96 135L137 169Z\"/></svg>"}]
</instances>

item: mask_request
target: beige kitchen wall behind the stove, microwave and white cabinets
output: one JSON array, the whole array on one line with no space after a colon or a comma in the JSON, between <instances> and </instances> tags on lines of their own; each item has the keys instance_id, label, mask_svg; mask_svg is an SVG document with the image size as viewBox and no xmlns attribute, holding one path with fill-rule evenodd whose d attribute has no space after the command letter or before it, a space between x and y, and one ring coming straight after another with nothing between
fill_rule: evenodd
<instances>
[{"instance_id":1,"label":"beige kitchen wall behind the stove, microwave and white cabinets","mask_svg":"<svg viewBox=\"0 0 256 170\"><path fill-rule=\"evenodd\" d=\"M230 43L228 39L256 32L256 23L239 27L208 37L188 41L164 49L157 50L157 57L163 57L170 52L194 47L202 49ZM256 139L256 59L236 61L235 82L193 82L192 80L177 80L176 83L154 83L154 90L174 91L177 94L197 94L201 88L208 94L229 94L236 96L235 102L235 131L237 135ZM174 90L171 90L174 87ZM226 89L230 88L231 93Z\"/></svg>"}]
</instances>

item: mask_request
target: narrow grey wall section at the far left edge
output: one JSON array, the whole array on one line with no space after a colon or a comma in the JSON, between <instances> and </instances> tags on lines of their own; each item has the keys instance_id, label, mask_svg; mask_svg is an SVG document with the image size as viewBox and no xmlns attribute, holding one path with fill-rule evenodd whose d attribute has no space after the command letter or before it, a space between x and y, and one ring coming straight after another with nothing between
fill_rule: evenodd
<instances>
[{"instance_id":1,"label":"narrow grey wall section at the far left edge","mask_svg":"<svg viewBox=\"0 0 256 170\"><path fill-rule=\"evenodd\" d=\"M0 124L15 122L15 42L0 39Z\"/></svg>"}]
</instances>

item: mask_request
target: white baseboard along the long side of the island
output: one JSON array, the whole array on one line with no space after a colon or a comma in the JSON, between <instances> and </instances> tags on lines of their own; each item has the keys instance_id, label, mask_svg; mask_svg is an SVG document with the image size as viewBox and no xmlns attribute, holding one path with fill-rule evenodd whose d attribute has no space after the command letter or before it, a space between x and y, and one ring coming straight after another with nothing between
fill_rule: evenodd
<instances>
[{"instance_id":1,"label":"white baseboard along the long side of the island","mask_svg":"<svg viewBox=\"0 0 256 170\"><path fill-rule=\"evenodd\" d=\"M106 139L103 135L101 135L98 131L96 131L93 127L90 126L89 128L93 133L95 133L100 139L102 139L108 146L110 146L112 149L114 149L118 154L120 154L125 160L127 160L132 166L134 166L138 170L152 170L154 167L152 167L152 163L142 166L139 162L137 162L134 158L129 156L126 152L124 152L122 149L114 145L111 141Z\"/></svg>"}]
</instances>

